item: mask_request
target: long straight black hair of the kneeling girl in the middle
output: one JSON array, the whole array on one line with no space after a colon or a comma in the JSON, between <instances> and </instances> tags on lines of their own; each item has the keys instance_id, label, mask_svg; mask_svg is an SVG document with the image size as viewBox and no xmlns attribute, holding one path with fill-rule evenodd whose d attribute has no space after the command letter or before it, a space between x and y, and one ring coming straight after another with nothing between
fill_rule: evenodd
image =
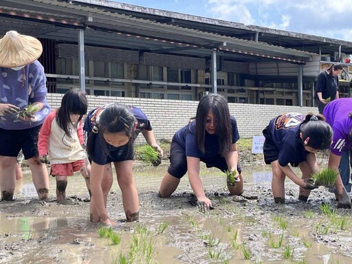
<instances>
[{"instance_id":1,"label":"long straight black hair of the kneeling girl in the middle","mask_svg":"<svg viewBox=\"0 0 352 264\"><path fill-rule=\"evenodd\" d=\"M206 117L212 111L214 115L215 135L219 137L220 153L230 151L232 144L232 126L227 100L219 94L207 94L199 101L196 120L196 140L201 153L205 152Z\"/></svg>"}]
</instances>

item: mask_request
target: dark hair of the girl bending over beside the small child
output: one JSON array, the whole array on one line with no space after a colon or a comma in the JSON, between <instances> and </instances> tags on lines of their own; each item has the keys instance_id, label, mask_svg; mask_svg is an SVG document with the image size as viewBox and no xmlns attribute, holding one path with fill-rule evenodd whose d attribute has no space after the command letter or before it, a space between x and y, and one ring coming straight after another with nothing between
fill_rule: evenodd
<instances>
[{"instance_id":1,"label":"dark hair of the girl bending over beside the small child","mask_svg":"<svg viewBox=\"0 0 352 264\"><path fill-rule=\"evenodd\" d=\"M137 120L130 111L129 107L124 104L113 103L109 104L100 114L99 121L95 125L87 138L87 153L90 157L94 155L94 140L100 140L102 152L109 155L107 142L104 140L104 133L120 133L125 132L129 137L129 142L135 140L133 127Z\"/></svg>"}]
</instances>

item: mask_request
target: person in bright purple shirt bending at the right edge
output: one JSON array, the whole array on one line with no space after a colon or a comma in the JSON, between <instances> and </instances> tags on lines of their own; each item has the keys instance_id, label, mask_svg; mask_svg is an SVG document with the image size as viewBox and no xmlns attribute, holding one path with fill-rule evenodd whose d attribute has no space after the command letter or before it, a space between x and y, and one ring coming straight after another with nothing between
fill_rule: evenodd
<instances>
[{"instance_id":1,"label":"person in bright purple shirt bending at the right edge","mask_svg":"<svg viewBox=\"0 0 352 264\"><path fill-rule=\"evenodd\" d=\"M349 151L352 148L352 98L329 102L323 115L333 128L328 166L336 170L340 167L340 177L336 181L336 199L340 199L344 192L343 187L351 191Z\"/></svg>"}]
</instances>

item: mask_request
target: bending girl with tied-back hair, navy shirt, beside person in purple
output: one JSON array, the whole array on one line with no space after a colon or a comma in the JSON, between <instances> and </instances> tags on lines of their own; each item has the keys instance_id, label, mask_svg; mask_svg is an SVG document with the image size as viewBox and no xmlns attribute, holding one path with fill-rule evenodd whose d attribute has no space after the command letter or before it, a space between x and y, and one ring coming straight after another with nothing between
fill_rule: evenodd
<instances>
[{"instance_id":1,"label":"bending girl with tied-back hair, navy shirt, beside person in purple","mask_svg":"<svg viewBox=\"0 0 352 264\"><path fill-rule=\"evenodd\" d=\"M283 113L263 130L265 164L272 165L272 193L276 203L285 203L285 177L300 186L298 199L307 201L310 190L318 188L309 178L319 171L316 153L329 148L332 129L322 115ZM289 167L299 167L300 179Z\"/></svg>"}]
</instances>

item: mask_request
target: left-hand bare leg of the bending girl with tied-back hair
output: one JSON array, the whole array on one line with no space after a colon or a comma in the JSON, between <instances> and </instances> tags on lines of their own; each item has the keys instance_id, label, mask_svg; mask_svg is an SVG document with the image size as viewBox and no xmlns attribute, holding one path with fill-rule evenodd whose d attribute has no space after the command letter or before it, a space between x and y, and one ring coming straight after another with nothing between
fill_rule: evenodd
<instances>
[{"instance_id":1,"label":"left-hand bare leg of the bending girl with tied-back hair","mask_svg":"<svg viewBox=\"0 0 352 264\"><path fill-rule=\"evenodd\" d=\"M272 162L272 194L276 203L285 203L285 177L278 161Z\"/></svg>"}]
</instances>

